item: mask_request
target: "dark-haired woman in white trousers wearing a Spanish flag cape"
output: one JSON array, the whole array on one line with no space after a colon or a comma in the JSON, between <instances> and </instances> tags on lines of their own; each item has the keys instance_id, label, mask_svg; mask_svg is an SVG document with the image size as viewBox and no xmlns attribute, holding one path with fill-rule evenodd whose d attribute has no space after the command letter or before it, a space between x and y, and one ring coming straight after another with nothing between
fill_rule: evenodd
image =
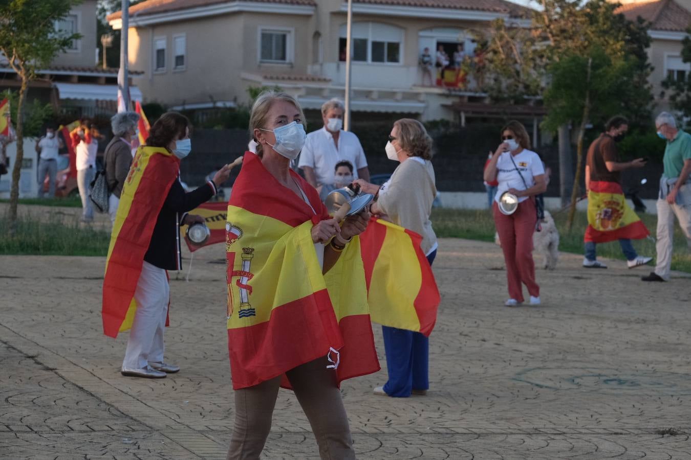
<instances>
[{"instance_id":1,"label":"dark-haired woman in white trousers wearing a Spanish flag cape","mask_svg":"<svg viewBox=\"0 0 691 460\"><path fill-rule=\"evenodd\" d=\"M117 208L103 281L104 334L131 328L122 374L160 379L180 368L163 359L169 283L167 270L180 270L180 225L203 221L187 214L208 201L228 179L221 168L212 181L185 192L180 161L191 150L190 123L164 113L129 168Z\"/></svg>"}]
</instances>

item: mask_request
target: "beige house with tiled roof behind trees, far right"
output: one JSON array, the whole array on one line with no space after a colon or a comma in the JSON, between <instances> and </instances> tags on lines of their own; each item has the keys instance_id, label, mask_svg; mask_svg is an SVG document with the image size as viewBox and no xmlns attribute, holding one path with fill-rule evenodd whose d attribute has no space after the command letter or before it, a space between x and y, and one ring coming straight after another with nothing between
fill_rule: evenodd
<instances>
[{"instance_id":1,"label":"beige house with tiled roof behind trees, far right","mask_svg":"<svg viewBox=\"0 0 691 460\"><path fill-rule=\"evenodd\" d=\"M622 2L623 3L623 2ZM676 80L688 79L691 64L681 60L681 41L691 26L691 0L630 1L618 12L628 19L642 17L651 26L648 34L652 39L648 48L648 59L654 67L650 76L653 86L656 111L668 110L669 103L663 95L662 81L668 77Z\"/></svg>"}]
</instances>

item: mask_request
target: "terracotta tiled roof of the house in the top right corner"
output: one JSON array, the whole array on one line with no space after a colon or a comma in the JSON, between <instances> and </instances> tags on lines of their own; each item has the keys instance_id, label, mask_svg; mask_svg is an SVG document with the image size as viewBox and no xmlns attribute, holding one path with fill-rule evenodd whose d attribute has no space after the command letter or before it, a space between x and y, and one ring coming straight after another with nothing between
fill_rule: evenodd
<instances>
[{"instance_id":1,"label":"terracotta tiled roof of the house in the top right corner","mask_svg":"<svg viewBox=\"0 0 691 460\"><path fill-rule=\"evenodd\" d=\"M616 9L627 19L642 17L652 23L652 30L684 32L691 25L691 12L674 0L653 0L627 3Z\"/></svg>"}]
</instances>

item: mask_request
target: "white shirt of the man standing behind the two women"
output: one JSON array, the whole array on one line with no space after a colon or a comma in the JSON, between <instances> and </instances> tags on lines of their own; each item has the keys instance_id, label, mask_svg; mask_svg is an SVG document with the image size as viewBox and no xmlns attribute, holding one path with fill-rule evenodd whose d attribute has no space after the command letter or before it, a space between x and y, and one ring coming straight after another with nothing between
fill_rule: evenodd
<instances>
[{"instance_id":1,"label":"white shirt of the man standing behind the two women","mask_svg":"<svg viewBox=\"0 0 691 460\"><path fill-rule=\"evenodd\" d=\"M359 139L350 131L341 130L339 146L336 147L334 137L324 127L310 132L305 139L305 146L300 153L299 168L309 166L314 168L316 185L334 183L336 163L347 160L353 166L352 176L357 179L357 170L367 166L365 151L362 150Z\"/></svg>"}]
</instances>

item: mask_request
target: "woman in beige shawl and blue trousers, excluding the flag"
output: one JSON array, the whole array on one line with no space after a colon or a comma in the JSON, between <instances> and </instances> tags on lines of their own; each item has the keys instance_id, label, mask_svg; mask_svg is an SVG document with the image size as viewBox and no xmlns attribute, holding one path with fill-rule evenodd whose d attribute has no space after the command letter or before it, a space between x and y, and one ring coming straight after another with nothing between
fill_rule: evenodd
<instances>
[{"instance_id":1,"label":"woman in beige shawl and blue trousers, excluding the flag","mask_svg":"<svg viewBox=\"0 0 691 460\"><path fill-rule=\"evenodd\" d=\"M437 195L432 168L432 139L417 120L396 121L386 144L386 156L401 164L391 179L378 187L363 179L357 183L363 192L375 194L372 214L385 214L386 219L422 235L420 244L427 261L432 264L437 255L437 236L432 230L430 212ZM420 332L381 327L386 350L388 381L375 388L375 394L409 397L425 394L429 388L429 339Z\"/></svg>"}]
</instances>

